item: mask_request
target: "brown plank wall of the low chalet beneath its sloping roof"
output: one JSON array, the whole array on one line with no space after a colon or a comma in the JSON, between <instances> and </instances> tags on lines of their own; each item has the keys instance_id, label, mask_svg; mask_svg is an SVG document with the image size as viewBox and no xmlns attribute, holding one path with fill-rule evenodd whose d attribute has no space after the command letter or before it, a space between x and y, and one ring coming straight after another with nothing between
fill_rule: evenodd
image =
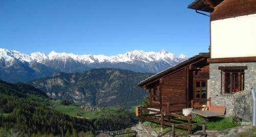
<instances>
[{"instance_id":1,"label":"brown plank wall of the low chalet beneath its sloping roof","mask_svg":"<svg viewBox=\"0 0 256 137\"><path fill-rule=\"evenodd\" d=\"M209 64L207 63L207 58L193 65L194 70L189 70L189 65L187 65L179 70L166 74L156 80L153 84L148 85L148 89L159 86L161 91L159 96L161 97L161 101L159 102L154 102L152 100L153 92L150 92L150 105L156 106L160 104L183 102L190 103L191 99L194 97L194 79L209 79ZM160 79L163 79L163 83L160 83ZM185 103L170 107L170 111L180 110L182 108L186 108ZM164 106L162 109L166 110L167 107Z\"/></svg>"}]
</instances>

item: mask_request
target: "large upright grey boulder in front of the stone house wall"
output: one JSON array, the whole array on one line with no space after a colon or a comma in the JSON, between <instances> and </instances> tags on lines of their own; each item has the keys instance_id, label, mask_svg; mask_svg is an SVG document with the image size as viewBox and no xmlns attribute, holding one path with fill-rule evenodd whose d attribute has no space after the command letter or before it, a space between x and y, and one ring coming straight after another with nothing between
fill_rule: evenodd
<instances>
[{"instance_id":1,"label":"large upright grey boulder in front of the stone house wall","mask_svg":"<svg viewBox=\"0 0 256 137\"><path fill-rule=\"evenodd\" d=\"M234 94L234 120L251 122L252 97L250 91L240 91Z\"/></svg>"}]
</instances>

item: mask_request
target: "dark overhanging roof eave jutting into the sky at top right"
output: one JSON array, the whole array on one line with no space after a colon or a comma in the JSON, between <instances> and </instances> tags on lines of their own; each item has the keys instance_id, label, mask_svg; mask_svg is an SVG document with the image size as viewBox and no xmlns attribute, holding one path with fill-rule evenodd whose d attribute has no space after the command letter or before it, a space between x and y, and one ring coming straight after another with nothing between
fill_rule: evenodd
<instances>
[{"instance_id":1,"label":"dark overhanging roof eave jutting into the sky at top right","mask_svg":"<svg viewBox=\"0 0 256 137\"><path fill-rule=\"evenodd\" d=\"M188 5L187 8L204 12L213 12L214 8L223 1L224 0L195 0Z\"/></svg>"}]
</instances>

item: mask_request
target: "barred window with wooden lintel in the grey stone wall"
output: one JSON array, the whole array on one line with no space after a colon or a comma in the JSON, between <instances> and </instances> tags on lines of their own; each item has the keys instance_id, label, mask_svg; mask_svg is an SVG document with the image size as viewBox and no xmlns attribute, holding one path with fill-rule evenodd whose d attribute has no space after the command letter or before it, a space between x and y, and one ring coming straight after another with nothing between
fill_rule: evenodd
<instances>
[{"instance_id":1,"label":"barred window with wooden lintel in the grey stone wall","mask_svg":"<svg viewBox=\"0 0 256 137\"><path fill-rule=\"evenodd\" d=\"M244 90L244 73L247 66L219 67L221 70L221 94L233 94Z\"/></svg>"}]
</instances>

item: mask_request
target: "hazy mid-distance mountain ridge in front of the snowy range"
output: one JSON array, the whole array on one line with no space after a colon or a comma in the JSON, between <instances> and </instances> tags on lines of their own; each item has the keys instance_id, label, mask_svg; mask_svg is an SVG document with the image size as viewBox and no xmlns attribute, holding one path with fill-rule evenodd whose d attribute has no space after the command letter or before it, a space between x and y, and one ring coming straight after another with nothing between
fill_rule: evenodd
<instances>
[{"instance_id":1,"label":"hazy mid-distance mountain ridge in front of the snowy range","mask_svg":"<svg viewBox=\"0 0 256 137\"><path fill-rule=\"evenodd\" d=\"M92 69L84 73L55 73L30 84L55 99L98 106L132 106L147 94L137 86L152 73L121 69Z\"/></svg>"}]
</instances>

